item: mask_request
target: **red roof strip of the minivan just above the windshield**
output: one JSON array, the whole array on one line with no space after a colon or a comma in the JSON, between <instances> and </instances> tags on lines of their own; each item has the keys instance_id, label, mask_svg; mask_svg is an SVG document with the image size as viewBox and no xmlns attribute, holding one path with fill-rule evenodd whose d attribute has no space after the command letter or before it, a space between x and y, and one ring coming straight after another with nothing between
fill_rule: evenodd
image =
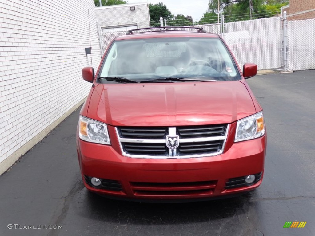
<instances>
[{"instance_id":1,"label":"red roof strip of the minivan just above the windshield","mask_svg":"<svg viewBox=\"0 0 315 236\"><path fill-rule=\"evenodd\" d=\"M202 33L202 32L193 32L193 31L160 31L160 32L144 32L144 33L135 33L129 35L121 35L116 38L116 40L125 40L125 39L141 39L141 38L167 38L167 37L210 37L215 38L219 37L214 33Z\"/></svg>"}]
</instances>

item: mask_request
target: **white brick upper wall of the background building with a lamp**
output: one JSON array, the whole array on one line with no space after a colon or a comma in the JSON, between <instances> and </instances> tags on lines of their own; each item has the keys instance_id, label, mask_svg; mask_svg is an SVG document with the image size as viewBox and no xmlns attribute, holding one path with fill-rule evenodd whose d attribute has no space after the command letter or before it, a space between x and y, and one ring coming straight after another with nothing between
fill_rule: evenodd
<instances>
[{"instance_id":1,"label":"white brick upper wall of the background building with a lamp","mask_svg":"<svg viewBox=\"0 0 315 236\"><path fill-rule=\"evenodd\" d=\"M130 10L131 6L135 7L134 11ZM130 3L96 7L95 14L100 27L130 24L138 24L139 28L150 27L150 17L147 3Z\"/></svg>"}]
</instances>

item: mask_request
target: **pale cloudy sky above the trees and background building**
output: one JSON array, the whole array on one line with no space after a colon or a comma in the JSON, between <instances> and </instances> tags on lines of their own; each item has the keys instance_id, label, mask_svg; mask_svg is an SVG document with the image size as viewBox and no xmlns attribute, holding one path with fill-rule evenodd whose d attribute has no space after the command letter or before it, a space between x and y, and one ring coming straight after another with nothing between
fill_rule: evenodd
<instances>
[{"instance_id":1,"label":"pale cloudy sky above the trees and background building","mask_svg":"<svg viewBox=\"0 0 315 236\"><path fill-rule=\"evenodd\" d=\"M128 0L128 3L146 2L139 0ZM148 3L156 4L162 2L173 15L190 15L194 21L200 20L203 13L208 9L209 0L147 0Z\"/></svg>"}]
</instances>

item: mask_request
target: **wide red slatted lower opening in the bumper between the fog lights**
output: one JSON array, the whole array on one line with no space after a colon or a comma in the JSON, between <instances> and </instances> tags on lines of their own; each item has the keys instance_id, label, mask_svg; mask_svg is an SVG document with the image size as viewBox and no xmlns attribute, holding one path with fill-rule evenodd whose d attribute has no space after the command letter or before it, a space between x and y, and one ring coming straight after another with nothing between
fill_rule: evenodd
<instances>
[{"instance_id":1,"label":"wide red slatted lower opening in the bumper between the fog lights","mask_svg":"<svg viewBox=\"0 0 315 236\"><path fill-rule=\"evenodd\" d=\"M130 182L137 196L191 196L210 195L217 181L180 182L180 183L143 183Z\"/></svg>"}]
</instances>

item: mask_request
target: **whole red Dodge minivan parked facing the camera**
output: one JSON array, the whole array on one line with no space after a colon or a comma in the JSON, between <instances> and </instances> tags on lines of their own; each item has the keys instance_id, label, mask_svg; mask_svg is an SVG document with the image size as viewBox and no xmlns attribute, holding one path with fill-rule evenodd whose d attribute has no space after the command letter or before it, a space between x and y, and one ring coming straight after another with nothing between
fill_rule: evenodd
<instances>
[{"instance_id":1,"label":"whole red Dodge minivan parked facing the camera","mask_svg":"<svg viewBox=\"0 0 315 236\"><path fill-rule=\"evenodd\" d=\"M208 200L257 188L263 111L223 39L202 28L130 30L112 41L77 127L85 187L138 201Z\"/></svg>"}]
</instances>

